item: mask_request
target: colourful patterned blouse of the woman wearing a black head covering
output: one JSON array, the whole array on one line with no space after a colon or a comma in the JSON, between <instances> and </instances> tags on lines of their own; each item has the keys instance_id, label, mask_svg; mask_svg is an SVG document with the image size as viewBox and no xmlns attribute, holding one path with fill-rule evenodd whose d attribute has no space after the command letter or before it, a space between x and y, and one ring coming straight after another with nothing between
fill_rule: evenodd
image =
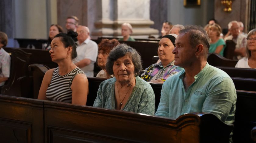
<instances>
[{"instance_id":1,"label":"colourful patterned blouse of the woman wearing a black head covering","mask_svg":"<svg viewBox=\"0 0 256 143\"><path fill-rule=\"evenodd\" d=\"M168 77L175 75L181 70L183 70L183 68L174 65L174 61L169 63L165 68L162 65L162 62L159 62L146 68L146 71L141 74L141 78L149 82L156 79L165 81Z\"/></svg>"}]
</instances>

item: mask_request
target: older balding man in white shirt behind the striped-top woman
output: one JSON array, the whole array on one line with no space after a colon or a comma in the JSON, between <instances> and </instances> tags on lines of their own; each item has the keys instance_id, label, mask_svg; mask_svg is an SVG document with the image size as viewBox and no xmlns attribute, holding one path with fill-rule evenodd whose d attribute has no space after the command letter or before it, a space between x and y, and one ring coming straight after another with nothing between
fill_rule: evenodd
<instances>
[{"instance_id":1,"label":"older balding man in white shirt behind the striped-top woman","mask_svg":"<svg viewBox=\"0 0 256 143\"><path fill-rule=\"evenodd\" d=\"M77 57L73 60L75 65L84 71L87 77L94 76L94 63L98 55L98 45L89 39L90 30L86 26L77 27Z\"/></svg>"}]
</instances>

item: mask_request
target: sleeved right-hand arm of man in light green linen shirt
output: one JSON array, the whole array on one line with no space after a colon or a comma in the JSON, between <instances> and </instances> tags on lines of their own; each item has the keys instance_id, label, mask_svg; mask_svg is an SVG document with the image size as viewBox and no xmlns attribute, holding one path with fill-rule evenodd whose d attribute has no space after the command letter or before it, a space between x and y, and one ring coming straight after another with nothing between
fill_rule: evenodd
<instances>
[{"instance_id":1,"label":"sleeved right-hand arm of man in light green linen shirt","mask_svg":"<svg viewBox=\"0 0 256 143\"><path fill-rule=\"evenodd\" d=\"M232 79L224 77L213 83L208 95L206 95L202 112L212 113L225 122L235 103L236 89L234 83Z\"/></svg>"}]
</instances>

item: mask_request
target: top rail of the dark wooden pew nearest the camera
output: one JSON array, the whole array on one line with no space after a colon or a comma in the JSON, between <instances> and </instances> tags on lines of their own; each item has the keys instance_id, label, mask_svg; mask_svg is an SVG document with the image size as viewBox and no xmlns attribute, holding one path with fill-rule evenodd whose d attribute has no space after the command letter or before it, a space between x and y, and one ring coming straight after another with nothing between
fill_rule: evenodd
<instances>
[{"instance_id":1,"label":"top rail of the dark wooden pew nearest the camera","mask_svg":"<svg viewBox=\"0 0 256 143\"><path fill-rule=\"evenodd\" d=\"M0 95L1 102L11 102L11 103L19 103L21 105L30 105L36 107L44 107L44 108L53 108L53 109L68 109L70 111L80 112L81 114L90 113L90 114L98 114L101 116L113 117L113 118L123 118L130 121L144 121L146 124L158 124L164 128L181 128L184 124L189 122L196 123L197 125L200 122L201 117L208 117L214 116L209 113L190 113L181 115L176 120L166 117L158 117L158 116L151 116L146 114L138 114L128 111L119 111L119 110L110 110L98 107L91 107L85 105L71 105L68 103L62 102L55 102L55 101L46 101L46 100L39 100L39 99L31 99L31 98L24 98L24 97L14 97L8 95ZM184 118L193 118L193 120L183 120ZM217 118L217 117L216 117Z\"/></svg>"}]
</instances>

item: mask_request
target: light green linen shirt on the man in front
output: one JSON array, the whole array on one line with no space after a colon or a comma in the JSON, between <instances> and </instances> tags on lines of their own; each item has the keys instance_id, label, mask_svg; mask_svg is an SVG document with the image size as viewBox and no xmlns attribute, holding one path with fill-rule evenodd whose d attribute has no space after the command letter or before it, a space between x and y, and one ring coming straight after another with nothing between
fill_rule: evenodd
<instances>
[{"instance_id":1,"label":"light green linen shirt on the man in front","mask_svg":"<svg viewBox=\"0 0 256 143\"><path fill-rule=\"evenodd\" d=\"M185 70L173 75L164 82L160 103L155 113L176 119L192 112L212 113L226 124L235 118L236 89L232 79L224 71L208 63L187 88L183 86Z\"/></svg>"}]
</instances>

